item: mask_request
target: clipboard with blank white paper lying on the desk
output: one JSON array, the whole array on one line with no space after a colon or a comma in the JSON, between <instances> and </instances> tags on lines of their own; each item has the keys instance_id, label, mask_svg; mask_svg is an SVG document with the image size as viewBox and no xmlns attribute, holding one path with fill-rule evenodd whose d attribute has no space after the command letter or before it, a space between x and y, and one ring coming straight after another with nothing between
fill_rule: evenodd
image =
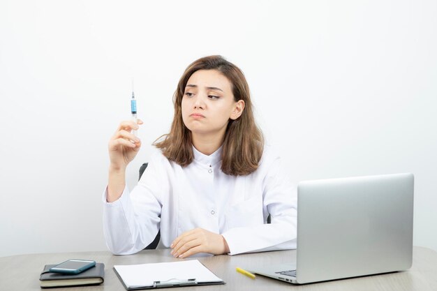
<instances>
[{"instance_id":1,"label":"clipboard with blank white paper lying on the desk","mask_svg":"<svg viewBox=\"0 0 437 291\"><path fill-rule=\"evenodd\" d=\"M225 284L199 260L114 265L113 269L126 290Z\"/></svg>"}]
</instances>

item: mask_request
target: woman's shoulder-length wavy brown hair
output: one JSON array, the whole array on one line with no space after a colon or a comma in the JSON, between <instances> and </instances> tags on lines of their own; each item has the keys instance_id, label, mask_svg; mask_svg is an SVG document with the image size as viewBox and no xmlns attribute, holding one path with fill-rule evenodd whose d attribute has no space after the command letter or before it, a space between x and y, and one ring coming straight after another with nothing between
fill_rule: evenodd
<instances>
[{"instance_id":1,"label":"woman's shoulder-length wavy brown hair","mask_svg":"<svg viewBox=\"0 0 437 291\"><path fill-rule=\"evenodd\" d=\"M231 82L235 102L244 100L242 115L235 120L229 119L226 128L221 153L221 170L225 174L234 176L251 174L258 169L264 149L264 137L255 124L249 85L242 70L221 56L203 57L186 68L173 96L175 117L170 133L158 137L154 146L161 149L163 155L170 161L175 161L183 167L193 161L191 131L186 128L182 120L182 98L188 79L197 70L218 70Z\"/></svg>"}]
</instances>

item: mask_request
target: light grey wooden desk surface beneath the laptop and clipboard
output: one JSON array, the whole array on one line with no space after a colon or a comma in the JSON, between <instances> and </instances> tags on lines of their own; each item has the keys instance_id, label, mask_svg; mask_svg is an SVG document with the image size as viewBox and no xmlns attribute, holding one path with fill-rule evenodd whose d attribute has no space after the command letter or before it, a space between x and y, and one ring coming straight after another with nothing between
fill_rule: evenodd
<instances>
[{"instance_id":1,"label":"light grey wooden desk surface beneath the laptop and clipboard","mask_svg":"<svg viewBox=\"0 0 437 291\"><path fill-rule=\"evenodd\" d=\"M313 283L307 285L291 285L271 278L257 276L254 280L235 271L235 267L250 267L253 264L275 264L295 260L296 251L276 251L245 255L216 255L198 258L225 285L209 285L172 290L437 290L437 253L429 248L415 246L413 251L413 267L408 271L395 272L353 279ZM112 255L109 252L86 253L47 253L31 255L13 255L0 258L0 290L31 291L41 290L39 275L44 264L55 264L71 258L96 260L105 264L105 282L98 286L74 288L56 288L52 290L124 290L123 285L114 274L114 264L143 264L147 262L173 262L169 250L142 251L135 255ZM317 267L317 266L315 266ZM50 290L50 289L47 289ZM165 289L165 290L168 290Z\"/></svg>"}]
</instances>

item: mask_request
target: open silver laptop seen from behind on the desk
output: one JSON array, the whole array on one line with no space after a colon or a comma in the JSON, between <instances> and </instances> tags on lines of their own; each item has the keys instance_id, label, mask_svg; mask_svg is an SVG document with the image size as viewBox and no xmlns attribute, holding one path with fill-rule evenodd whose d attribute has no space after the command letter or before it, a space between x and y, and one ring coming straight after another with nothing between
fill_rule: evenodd
<instances>
[{"instance_id":1,"label":"open silver laptop seen from behind on the desk","mask_svg":"<svg viewBox=\"0 0 437 291\"><path fill-rule=\"evenodd\" d=\"M413 174L302 181L296 262L250 271L304 284L409 269Z\"/></svg>"}]
</instances>

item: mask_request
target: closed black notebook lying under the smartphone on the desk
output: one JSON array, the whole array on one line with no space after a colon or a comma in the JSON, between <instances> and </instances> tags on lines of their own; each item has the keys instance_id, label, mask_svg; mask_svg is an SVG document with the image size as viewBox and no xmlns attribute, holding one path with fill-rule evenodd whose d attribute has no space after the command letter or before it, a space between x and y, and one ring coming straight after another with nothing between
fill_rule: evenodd
<instances>
[{"instance_id":1,"label":"closed black notebook lying under the smartphone on the desk","mask_svg":"<svg viewBox=\"0 0 437 291\"><path fill-rule=\"evenodd\" d=\"M44 270L48 271L56 264L46 264ZM103 283L105 276L105 264L96 263L95 267L91 267L82 273L75 275L45 273L40 276L41 288L66 287L66 286L82 286L82 285L98 285Z\"/></svg>"}]
</instances>

